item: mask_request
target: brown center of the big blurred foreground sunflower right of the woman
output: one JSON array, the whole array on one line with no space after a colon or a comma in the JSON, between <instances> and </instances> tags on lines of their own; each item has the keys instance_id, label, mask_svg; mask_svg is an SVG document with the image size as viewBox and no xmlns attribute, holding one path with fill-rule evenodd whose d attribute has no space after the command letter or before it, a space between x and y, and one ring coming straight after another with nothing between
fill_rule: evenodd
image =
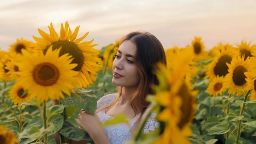
<instances>
[{"instance_id":1,"label":"brown center of the big blurred foreground sunflower right of the woman","mask_svg":"<svg viewBox=\"0 0 256 144\"><path fill-rule=\"evenodd\" d=\"M182 106L180 108L182 112L182 117L180 123L178 124L179 128L182 129L183 126L188 123L193 114L193 96L189 92L188 86L183 83L179 89L178 95L182 98Z\"/></svg>"}]
</instances>

